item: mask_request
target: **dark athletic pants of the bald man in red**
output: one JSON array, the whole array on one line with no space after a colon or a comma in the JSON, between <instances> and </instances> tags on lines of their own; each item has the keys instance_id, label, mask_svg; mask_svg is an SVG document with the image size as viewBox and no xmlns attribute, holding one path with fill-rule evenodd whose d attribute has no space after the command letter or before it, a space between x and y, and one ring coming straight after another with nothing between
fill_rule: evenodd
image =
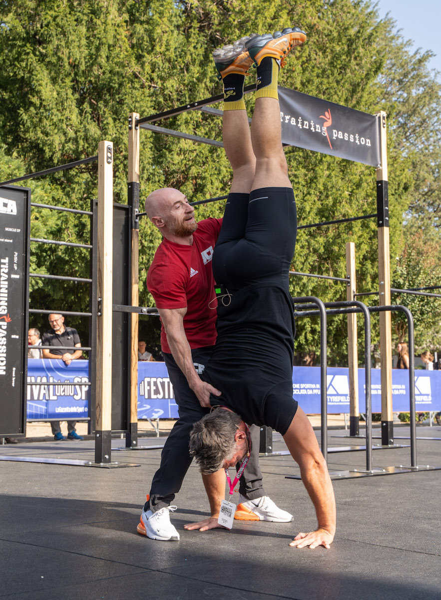
<instances>
[{"instance_id":1,"label":"dark athletic pants of the bald man in red","mask_svg":"<svg viewBox=\"0 0 441 600\"><path fill-rule=\"evenodd\" d=\"M193 362L199 374L203 372L212 351L213 346L192 350ZM150 508L153 512L159 511L164 506L170 506L175 494L179 492L192 462L188 449L191 429L195 422L200 421L209 412L209 409L204 409L200 405L198 398L189 388L188 382L173 356L164 353L164 360L173 385L179 419L164 444L161 466L153 477L150 500L145 506L146 510ZM240 478L239 491L247 499L255 500L266 495L259 466L260 428L252 425L250 434L252 451L250 460Z\"/></svg>"}]
</instances>

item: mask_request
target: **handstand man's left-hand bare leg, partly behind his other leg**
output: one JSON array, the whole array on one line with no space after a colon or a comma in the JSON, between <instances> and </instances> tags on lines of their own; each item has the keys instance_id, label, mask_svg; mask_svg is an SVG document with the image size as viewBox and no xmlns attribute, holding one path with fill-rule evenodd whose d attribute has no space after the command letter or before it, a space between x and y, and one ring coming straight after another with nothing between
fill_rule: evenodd
<instances>
[{"instance_id":1,"label":"handstand man's left-hand bare leg, partly behind his other leg","mask_svg":"<svg viewBox=\"0 0 441 600\"><path fill-rule=\"evenodd\" d=\"M232 168L230 192L249 194L255 176L256 157L246 110L224 110L223 145Z\"/></svg>"}]
</instances>

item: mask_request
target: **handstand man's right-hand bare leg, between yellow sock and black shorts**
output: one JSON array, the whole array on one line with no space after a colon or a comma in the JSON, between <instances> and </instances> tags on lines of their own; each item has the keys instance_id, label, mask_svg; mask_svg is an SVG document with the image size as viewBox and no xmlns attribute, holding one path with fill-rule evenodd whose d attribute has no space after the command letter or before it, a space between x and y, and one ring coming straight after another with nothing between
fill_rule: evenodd
<instances>
[{"instance_id":1,"label":"handstand man's right-hand bare leg, between yellow sock and black shorts","mask_svg":"<svg viewBox=\"0 0 441 600\"><path fill-rule=\"evenodd\" d=\"M251 139L256 157L256 173L251 189L292 188L282 148L279 100L256 98L251 123Z\"/></svg>"}]
</instances>

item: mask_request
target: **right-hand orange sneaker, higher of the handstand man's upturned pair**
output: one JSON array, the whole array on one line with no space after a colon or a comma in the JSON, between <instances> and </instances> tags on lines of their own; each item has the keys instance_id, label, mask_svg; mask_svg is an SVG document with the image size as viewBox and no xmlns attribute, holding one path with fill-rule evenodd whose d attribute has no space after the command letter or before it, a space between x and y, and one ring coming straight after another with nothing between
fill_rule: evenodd
<instances>
[{"instance_id":1,"label":"right-hand orange sneaker, higher of the handstand man's upturned pair","mask_svg":"<svg viewBox=\"0 0 441 600\"><path fill-rule=\"evenodd\" d=\"M286 27L283 31L274 31L273 35L257 35L245 42L250 58L256 66L261 64L262 58L271 56L275 58L280 67L285 67L285 59L295 46L300 46L306 40L306 33L298 27Z\"/></svg>"}]
</instances>

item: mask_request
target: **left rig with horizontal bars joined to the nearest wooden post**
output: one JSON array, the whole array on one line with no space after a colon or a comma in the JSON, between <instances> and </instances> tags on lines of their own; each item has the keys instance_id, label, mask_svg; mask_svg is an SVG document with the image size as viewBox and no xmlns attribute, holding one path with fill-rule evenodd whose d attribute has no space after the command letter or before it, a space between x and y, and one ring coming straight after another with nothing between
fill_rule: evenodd
<instances>
[{"instance_id":1,"label":"left rig with horizontal bars joined to the nearest wooden post","mask_svg":"<svg viewBox=\"0 0 441 600\"><path fill-rule=\"evenodd\" d=\"M29 188L20 188L17 186L7 187L10 184L15 184L25 179L36 178L40 176L49 175L65 169L72 169L74 167L81 166L83 164L98 161L98 200L92 200L90 211L81 211L77 209L65 208L63 206L52 206L43 205L37 203L31 203L31 190ZM20 372L20 385L14 385L14 390L11 391L10 397L8 397L8 409L11 409L13 404L19 407L19 411L15 410L13 414L14 420L8 419L2 420L2 427L10 428L9 431L14 435L18 434L25 436L26 428L26 385L27 385L27 350L28 346L24 343L25 332L29 328L29 313L34 314L58 314L61 313L66 316L80 316L89 319L89 346L81 346L78 349L89 352L89 381L81 382L80 385L89 387L89 421L88 429L89 433L95 432L95 462L92 461L81 461L81 460L65 460L65 459L48 459L38 457L19 457L14 456L0 456L0 460L14 460L14 461L28 461L38 463L58 463L58 464L71 464L75 466L95 466L95 467L126 467L136 466L134 464L117 463L111 461L110 454L110 442L112 432L112 421L118 419L114 418L115 409L124 410L121 407L121 400L119 406L112 406L112 387L115 386L120 380L123 380L123 369L116 370L116 378L112 380L112 358L119 360L119 353L113 353L112 345L116 340L112 338L113 328L124 328L124 323L115 322L113 317L113 270L114 266L118 267L118 257L122 257L123 265L119 265L119 272L117 269L117 275L121 274L124 270L124 261L127 260L128 253L123 248L119 249L116 253L116 257L113 253L113 235L114 235L114 224L119 223L120 229L128 229L126 227L126 221L128 221L128 215L131 216L129 207L123 205L113 205L113 143L108 141L100 142L98 145L98 155L85 158L83 160L75 161L73 163L64 164L57 167L52 167L37 173L30 173L19 178L11 179L9 181L2 182L0 184L1 194L5 196L8 202L14 203L15 211L23 213L23 244L21 254L23 255L25 262L20 265L22 270L22 290L20 295L22 296L22 304L20 305L19 298L14 298L14 305L11 303L10 312L17 309L23 313L21 320L21 331L22 335L13 335L13 338L17 338L17 347L20 349L16 350L16 355L19 355L20 361L17 362L17 356L7 356L7 362L11 362L16 359L17 367L14 367L14 371ZM12 205L11 205L12 206ZM73 242L63 242L50 239L30 238L29 237L29 223L30 223L30 212L32 208L36 209L50 209L54 211L64 211L73 214L87 215L90 217L90 244L74 244ZM120 213L122 212L123 217L121 220ZM13 211L11 209L11 214ZM20 213L21 214L21 213ZM15 232L20 232L20 229L14 229ZM26 233L26 239L24 234ZM117 233L121 233L118 231ZM117 239L121 239L122 235L119 235ZM11 242L13 242L11 240ZM29 245L31 242L38 244L55 244L64 247L75 247L75 248L86 248L90 253L90 278L79 278L69 277L66 275L52 275L52 274L38 274L29 273ZM20 243L20 241L18 242ZM20 248L18 248L20 250ZM20 252L16 253L17 255ZM113 257L113 260L112 260ZM17 271L18 272L18 271ZM123 274L122 274L123 275ZM59 307L51 310L41 308L28 308L29 303L29 277L44 278L47 280L62 280L62 281L74 281L75 283L87 283L90 286L89 294L89 312L78 312L78 311L67 311L60 309ZM17 277L20 278L20 277ZM124 281L124 278L120 279ZM126 287L126 286L122 286ZM126 298L120 298L119 301L126 301ZM9 307L8 307L9 310ZM8 314L9 318L9 314ZM17 319L18 320L18 319ZM13 319L10 319L13 321ZM124 345L126 338L120 340L122 346ZM51 346L35 346L38 349L50 349ZM71 349L68 347L58 346L60 349ZM12 349L14 350L14 348ZM122 352L123 354L123 352ZM125 352L125 356L128 353ZM117 365L119 366L119 365ZM122 371L122 372L121 372ZM18 377L17 377L18 379ZM34 386L49 386L50 382L32 382ZM123 381L122 381L123 385ZM115 390L114 390L115 391ZM120 390L116 389L119 393ZM125 394L126 395L126 394ZM5 412L5 415L10 415L11 410L8 412L4 410L5 407L0 406ZM113 410L113 412L112 412ZM3 415L2 415L3 416ZM118 416L118 415L116 415ZM36 419L41 420L41 419ZM53 419L46 419L53 420ZM65 419L62 419L65 420ZM84 419L70 419L70 420L84 420ZM117 422L117 425L119 423ZM114 427L113 431L120 430L120 427ZM8 430L7 430L8 431ZM123 428L125 431L125 428ZM2 432L3 433L3 432ZM7 433L5 433L7 434Z\"/></svg>"}]
</instances>

